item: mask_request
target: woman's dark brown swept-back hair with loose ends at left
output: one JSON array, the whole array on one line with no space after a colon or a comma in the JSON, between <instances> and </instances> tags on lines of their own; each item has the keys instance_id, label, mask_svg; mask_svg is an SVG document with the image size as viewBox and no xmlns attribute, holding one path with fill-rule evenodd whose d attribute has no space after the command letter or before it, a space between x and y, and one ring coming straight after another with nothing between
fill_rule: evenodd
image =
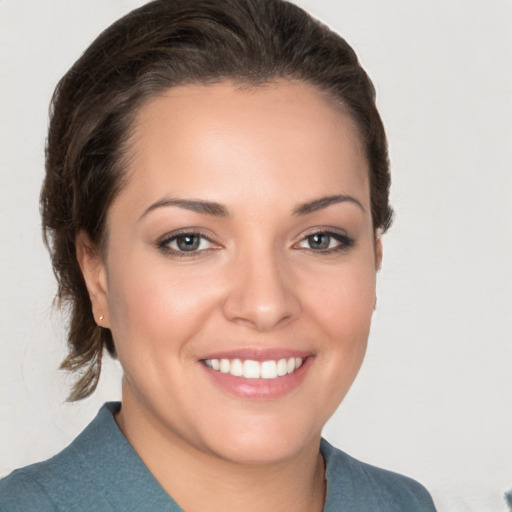
<instances>
[{"instance_id":1,"label":"woman's dark brown swept-back hair with loose ends at left","mask_svg":"<svg viewBox=\"0 0 512 512\"><path fill-rule=\"evenodd\" d=\"M150 2L105 30L57 85L41 211L57 299L70 307L69 353L62 363L78 371L70 400L96 388L103 349L115 355L110 330L94 320L75 240L83 231L98 247L104 243L137 111L176 85L278 78L312 84L355 120L369 162L373 225L385 231L392 217L390 176L373 85L346 41L291 3Z\"/></svg>"}]
</instances>

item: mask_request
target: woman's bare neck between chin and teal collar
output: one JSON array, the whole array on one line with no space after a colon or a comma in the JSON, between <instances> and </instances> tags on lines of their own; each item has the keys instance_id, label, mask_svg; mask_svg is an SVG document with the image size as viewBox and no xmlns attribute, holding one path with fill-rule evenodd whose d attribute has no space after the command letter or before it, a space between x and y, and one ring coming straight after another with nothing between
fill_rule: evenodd
<instances>
[{"instance_id":1,"label":"woman's bare neck between chin and teal collar","mask_svg":"<svg viewBox=\"0 0 512 512\"><path fill-rule=\"evenodd\" d=\"M123 402L116 421L155 479L186 512L321 512L325 468L320 438L290 458L240 464L205 453Z\"/></svg>"}]
</instances>

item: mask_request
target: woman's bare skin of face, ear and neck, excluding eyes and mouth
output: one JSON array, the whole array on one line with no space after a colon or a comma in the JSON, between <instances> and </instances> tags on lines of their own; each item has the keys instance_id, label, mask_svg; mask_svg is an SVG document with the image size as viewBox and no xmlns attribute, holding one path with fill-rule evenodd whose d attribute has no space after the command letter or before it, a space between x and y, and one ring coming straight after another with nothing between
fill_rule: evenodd
<instances>
[{"instance_id":1,"label":"woman's bare skin of face, ear and neck, excluding eyes and mouth","mask_svg":"<svg viewBox=\"0 0 512 512\"><path fill-rule=\"evenodd\" d=\"M352 120L302 83L183 86L141 109L130 151L106 251L77 244L124 370L121 430L188 512L322 510L321 430L363 361L381 258ZM333 195L353 200L297 215ZM159 247L189 228L210 241L182 257L176 240ZM313 232L342 241L312 247ZM230 393L201 362L273 348L310 357L272 399Z\"/></svg>"}]
</instances>

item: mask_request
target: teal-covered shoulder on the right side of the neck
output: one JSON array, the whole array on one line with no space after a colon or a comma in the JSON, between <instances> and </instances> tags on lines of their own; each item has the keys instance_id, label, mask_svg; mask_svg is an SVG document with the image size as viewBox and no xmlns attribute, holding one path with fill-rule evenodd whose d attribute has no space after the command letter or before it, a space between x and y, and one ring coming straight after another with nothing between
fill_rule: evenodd
<instances>
[{"instance_id":1,"label":"teal-covered shoulder on the right side of the neck","mask_svg":"<svg viewBox=\"0 0 512 512\"><path fill-rule=\"evenodd\" d=\"M429 492L415 480L360 462L325 440L321 450L327 475L325 512L339 510L342 503L358 512L435 512Z\"/></svg>"}]
</instances>

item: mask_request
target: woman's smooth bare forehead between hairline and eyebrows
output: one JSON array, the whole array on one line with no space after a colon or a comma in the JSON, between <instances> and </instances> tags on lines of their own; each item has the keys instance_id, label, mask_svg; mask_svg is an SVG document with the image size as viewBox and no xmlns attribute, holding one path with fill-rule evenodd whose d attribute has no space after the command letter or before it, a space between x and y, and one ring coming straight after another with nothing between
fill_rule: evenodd
<instances>
[{"instance_id":1,"label":"woman's smooth bare forehead between hairline and eyebrows","mask_svg":"<svg viewBox=\"0 0 512 512\"><path fill-rule=\"evenodd\" d=\"M224 202L244 187L269 198L311 188L319 196L337 185L368 195L354 122L301 82L169 89L139 111L130 148L129 182L147 200L206 193Z\"/></svg>"}]
</instances>

